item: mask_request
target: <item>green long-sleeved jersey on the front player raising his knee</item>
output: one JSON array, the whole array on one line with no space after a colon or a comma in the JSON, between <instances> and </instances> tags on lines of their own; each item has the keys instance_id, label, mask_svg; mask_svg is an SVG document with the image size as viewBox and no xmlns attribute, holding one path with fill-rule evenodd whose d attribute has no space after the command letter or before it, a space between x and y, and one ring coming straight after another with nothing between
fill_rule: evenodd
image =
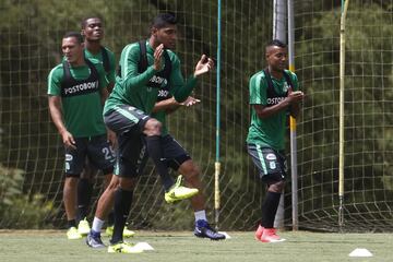
<instances>
[{"instance_id":1,"label":"green long-sleeved jersey on the front player raising his knee","mask_svg":"<svg viewBox=\"0 0 393 262\"><path fill-rule=\"evenodd\" d=\"M167 50L167 52L171 70L169 79L163 79L160 72L165 68L159 72L154 70L154 49L148 41L146 41L148 67L144 72L139 72L141 59L139 43L126 46L119 61L121 75L116 78L115 88L105 103L104 114L110 109L116 109L118 105L130 105L150 115L157 100L159 88L166 87L176 100L184 100L195 86L196 79L190 76L184 83L179 58L171 50ZM152 87L152 84L159 85L159 88Z\"/></svg>"}]
</instances>

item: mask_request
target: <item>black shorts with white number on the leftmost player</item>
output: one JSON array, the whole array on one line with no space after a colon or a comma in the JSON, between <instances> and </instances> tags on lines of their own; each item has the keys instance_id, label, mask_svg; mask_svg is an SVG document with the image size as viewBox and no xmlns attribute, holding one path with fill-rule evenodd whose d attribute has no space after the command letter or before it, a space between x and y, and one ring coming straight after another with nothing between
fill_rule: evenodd
<instances>
[{"instance_id":1,"label":"black shorts with white number on the leftmost player","mask_svg":"<svg viewBox=\"0 0 393 262\"><path fill-rule=\"evenodd\" d=\"M76 138L75 146L76 150L66 148L66 176L79 176L83 170L86 157L94 167L103 170L105 175L114 171L115 152L107 141L106 134Z\"/></svg>"}]
</instances>

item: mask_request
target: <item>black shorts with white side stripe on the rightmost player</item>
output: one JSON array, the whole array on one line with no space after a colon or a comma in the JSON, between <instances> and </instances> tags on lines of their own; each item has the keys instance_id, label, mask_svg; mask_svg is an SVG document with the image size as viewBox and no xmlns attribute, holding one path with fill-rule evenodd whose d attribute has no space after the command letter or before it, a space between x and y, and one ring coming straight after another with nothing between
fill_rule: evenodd
<instances>
[{"instance_id":1,"label":"black shorts with white side stripe on the rightmost player","mask_svg":"<svg viewBox=\"0 0 393 262\"><path fill-rule=\"evenodd\" d=\"M283 152L257 144L247 144L247 150L263 181L284 180L287 166Z\"/></svg>"}]
</instances>

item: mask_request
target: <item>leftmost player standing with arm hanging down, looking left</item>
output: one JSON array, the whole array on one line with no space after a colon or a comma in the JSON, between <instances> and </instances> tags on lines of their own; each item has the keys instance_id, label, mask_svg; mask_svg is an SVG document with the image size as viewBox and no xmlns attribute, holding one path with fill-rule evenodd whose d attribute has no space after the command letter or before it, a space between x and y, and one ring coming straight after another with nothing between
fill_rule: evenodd
<instances>
[{"instance_id":1,"label":"leftmost player standing with arm hanging down, looking left","mask_svg":"<svg viewBox=\"0 0 393 262\"><path fill-rule=\"evenodd\" d=\"M82 238L76 229L76 187L86 157L104 175L111 176L115 155L103 120L108 81L100 62L84 58L80 33L62 38L64 60L48 76L48 103L52 121L66 148L63 201L69 239Z\"/></svg>"}]
</instances>

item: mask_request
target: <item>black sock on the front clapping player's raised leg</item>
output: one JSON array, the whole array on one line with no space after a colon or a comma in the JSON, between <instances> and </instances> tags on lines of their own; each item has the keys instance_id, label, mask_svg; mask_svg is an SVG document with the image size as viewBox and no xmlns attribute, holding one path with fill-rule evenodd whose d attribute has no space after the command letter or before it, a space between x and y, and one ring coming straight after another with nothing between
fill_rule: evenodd
<instances>
[{"instance_id":1,"label":"black sock on the front clapping player's raised leg","mask_svg":"<svg viewBox=\"0 0 393 262\"><path fill-rule=\"evenodd\" d=\"M165 191L168 192L170 187L174 186L174 179L169 176L160 141L159 135L146 136L146 150L157 168Z\"/></svg>"}]
</instances>

